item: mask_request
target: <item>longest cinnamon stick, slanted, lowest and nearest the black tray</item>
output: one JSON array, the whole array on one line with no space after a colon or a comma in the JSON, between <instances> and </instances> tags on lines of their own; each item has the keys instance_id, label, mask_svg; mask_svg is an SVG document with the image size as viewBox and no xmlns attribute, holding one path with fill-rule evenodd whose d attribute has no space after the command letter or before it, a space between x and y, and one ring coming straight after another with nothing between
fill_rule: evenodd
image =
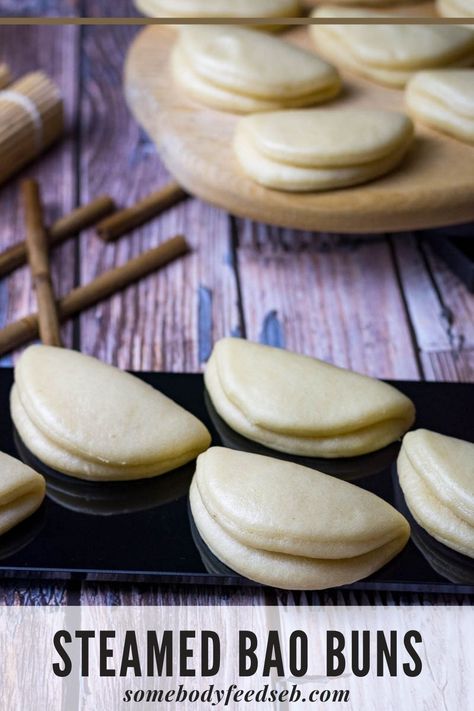
<instances>
[{"instance_id":1,"label":"longest cinnamon stick, slanted, lowest and nearest the black tray","mask_svg":"<svg viewBox=\"0 0 474 711\"><path fill-rule=\"evenodd\" d=\"M58 303L60 321L66 321L71 316L85 311L187 252L189 252L189 245L185 238L173 237L159 247L131 259L123 266L101 274L90 284L73 289ZM38 314L31 314L5 326L0 330L0 355L32 341L37 338L38 333Z\"/></svg>"}]
</instances>

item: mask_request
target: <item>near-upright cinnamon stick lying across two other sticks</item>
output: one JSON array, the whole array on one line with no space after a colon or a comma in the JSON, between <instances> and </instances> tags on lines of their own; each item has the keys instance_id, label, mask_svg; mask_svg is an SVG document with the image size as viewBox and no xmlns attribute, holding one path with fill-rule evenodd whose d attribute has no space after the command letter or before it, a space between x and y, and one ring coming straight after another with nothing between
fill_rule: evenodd
<instances>
[{"instance_id":1,"label":"near-upright cinnamon stick lying across two other sticks","mask_svg":"<svg viewBox=\"0 0 474 711\"><path fill-rule=\"evenodd\" d=\"M36 180L24 180L21 192L25 209L26 250L38 304L40 338L47 346L62 346L40 187Z\"/></svg>"}]
</instances>

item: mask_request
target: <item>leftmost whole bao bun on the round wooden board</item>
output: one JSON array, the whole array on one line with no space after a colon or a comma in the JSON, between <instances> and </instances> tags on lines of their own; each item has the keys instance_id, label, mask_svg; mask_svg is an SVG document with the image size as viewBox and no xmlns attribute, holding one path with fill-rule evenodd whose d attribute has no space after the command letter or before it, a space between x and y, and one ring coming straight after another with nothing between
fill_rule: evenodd
<instances>
[{"instance_id":1,"label":"leftmost whole bao bun on the round wooden board","mask_svg":"<svg viewBox=\"0 0 474 711\"><path fill-rule=\"evenodd\" d=\"M341 88L337 70L311 52L242 27L183 27L171 62L190 97L235 113L311 106Z\"/></svg>"}]
</instances>

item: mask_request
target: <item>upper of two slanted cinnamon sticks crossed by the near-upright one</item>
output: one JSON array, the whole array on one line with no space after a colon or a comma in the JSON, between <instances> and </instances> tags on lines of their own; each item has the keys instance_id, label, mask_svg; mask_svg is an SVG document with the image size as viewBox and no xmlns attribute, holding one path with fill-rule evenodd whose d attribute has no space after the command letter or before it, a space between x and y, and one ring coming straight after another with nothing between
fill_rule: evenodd
<instances>
[{"instance_id":1,"label":"upper of two slanted cinnamon sticks crossed by the near-upright one","mask_svg":"<svg viewBox=\"0 0 474 711\"><path fill-rule=\"evenodd\" d=\"M110 215L116 209L115 203L108 195L101 195L88 205L78 207L68 215L61 217L50 228L48 245L51 249L82 230L96 225L103 217ZM27 260L26 242L19 242L0 254L0 277L10 274L21 267Z\"/></svg>"}]
</instances>

